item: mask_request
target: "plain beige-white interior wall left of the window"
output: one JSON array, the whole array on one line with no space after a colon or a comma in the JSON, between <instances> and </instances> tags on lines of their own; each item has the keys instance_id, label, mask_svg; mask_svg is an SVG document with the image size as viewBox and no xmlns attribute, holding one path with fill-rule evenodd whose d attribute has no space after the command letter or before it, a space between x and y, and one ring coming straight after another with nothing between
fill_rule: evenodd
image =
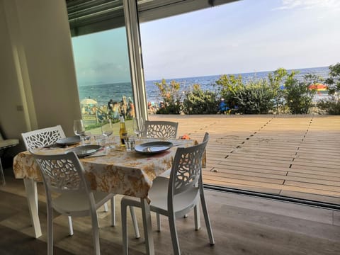
<instances>
[{"instance_id":1,"label":"plain beige-white interior wall left of the window","mask_svg":"<svg viewBox=\"0 0 340 255\"><path fill-rule=\"evenodd\" d=\"M0 128L8 138L81 118L64 0L0 0ZM21 147L23 149L23 147Z\"/></svg>"}]
</instances>

